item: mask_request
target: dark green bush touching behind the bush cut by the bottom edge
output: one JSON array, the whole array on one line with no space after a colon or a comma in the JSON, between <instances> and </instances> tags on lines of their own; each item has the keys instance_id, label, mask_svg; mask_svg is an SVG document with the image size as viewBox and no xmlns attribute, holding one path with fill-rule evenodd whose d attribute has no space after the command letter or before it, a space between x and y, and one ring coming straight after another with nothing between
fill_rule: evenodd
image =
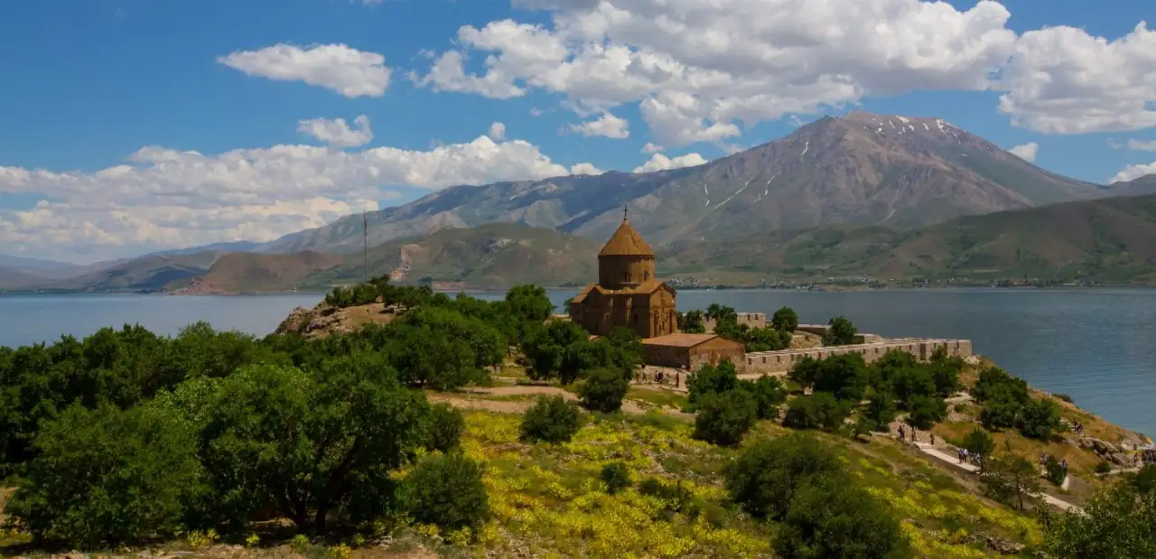
<instances>
[{"instance_id":1,"label":"dark green bush touching behind the bush cut by the bottom edge","mask_svg":"<svg viewBox=\"0 0 1156 559\"><path fill-rule=\"evenodd\" d=\"M845 471L829 444L795 433L758 440L722 475L727 493L743 510L756 519L781 520L800 487Z\"/></svg>"}]
</instances>

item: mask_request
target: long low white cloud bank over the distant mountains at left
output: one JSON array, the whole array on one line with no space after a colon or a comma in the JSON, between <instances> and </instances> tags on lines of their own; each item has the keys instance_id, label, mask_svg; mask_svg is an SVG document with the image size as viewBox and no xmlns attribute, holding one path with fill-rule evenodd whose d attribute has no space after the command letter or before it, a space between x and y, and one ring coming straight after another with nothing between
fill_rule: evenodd
<instances>
[{"instance_id":1,"label":"long low white cloud bank over the distant mountains at left","mask_svg":"<svg viewBox=\"0 0 1156 559\"><path fill-rule=\"evenodd\" d=\"M398 196L383 189L592 173L565 167L527 142L429 150L314 146L236 149L217 155L146 147L96 172L0 166L0 193L43 196L29 210L0 209L0 246L50 258L98 260L142 248L271 240L372 210Z\"/></svg>"}]
</instances>

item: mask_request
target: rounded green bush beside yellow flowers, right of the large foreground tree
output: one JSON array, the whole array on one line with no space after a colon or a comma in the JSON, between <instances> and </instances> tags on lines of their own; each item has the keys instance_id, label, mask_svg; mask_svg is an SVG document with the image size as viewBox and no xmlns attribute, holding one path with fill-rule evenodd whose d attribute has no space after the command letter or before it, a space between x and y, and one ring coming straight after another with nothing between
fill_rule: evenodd
<instances>
[{"instance_id":1,"label":"rounded green bush beside yellow flowers, right of the large foreground tree","mask_svg":"<svg viewBox=\"0 0 1156 559\"><path fill-rule=\"evenodd\" d=\"M461 453L427 456L406 477L409 515L444 530L476 528L489 517L482 469Z\"/></svg>"}]
</instances>

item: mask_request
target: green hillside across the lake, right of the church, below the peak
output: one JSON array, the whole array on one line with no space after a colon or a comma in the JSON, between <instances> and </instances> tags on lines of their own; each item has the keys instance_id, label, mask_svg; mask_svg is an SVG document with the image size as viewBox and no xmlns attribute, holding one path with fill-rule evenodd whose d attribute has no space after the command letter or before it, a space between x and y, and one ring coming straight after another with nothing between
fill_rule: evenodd
<instances>
[{"instance_id":1,"label":"green hillside across the lake, right of the church, below the peak","mask_svg":"<svg viewBox=\"0 0 1156 559\"><path fill-rule=\"evenodd\" d=\"M674 244L664 274L781 277L1033 277L1156 283L1156 195L958 217L913 231L829 226Z\"/></svg>"}]
</instances>

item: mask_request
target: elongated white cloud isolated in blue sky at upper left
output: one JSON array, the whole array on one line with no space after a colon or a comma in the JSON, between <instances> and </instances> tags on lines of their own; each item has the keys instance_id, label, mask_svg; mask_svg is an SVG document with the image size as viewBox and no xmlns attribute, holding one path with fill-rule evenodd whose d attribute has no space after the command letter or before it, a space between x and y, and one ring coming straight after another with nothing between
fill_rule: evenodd
<instances>
[{"instance_id":1,"label":"elongated white cloud isolated in blue sky at upper left","mask_svg":"<svg viewBox=\"0 0 1156 559\"><path fill-rule=\"evenodd\" d=\"M385 57L343 44L314 45L307 49L277 44L259 51L236 51L218 57L217 62L251 76L303 81L350 98L385 95L392 73L385 66Z\"/></svg>"}]
</instances>

